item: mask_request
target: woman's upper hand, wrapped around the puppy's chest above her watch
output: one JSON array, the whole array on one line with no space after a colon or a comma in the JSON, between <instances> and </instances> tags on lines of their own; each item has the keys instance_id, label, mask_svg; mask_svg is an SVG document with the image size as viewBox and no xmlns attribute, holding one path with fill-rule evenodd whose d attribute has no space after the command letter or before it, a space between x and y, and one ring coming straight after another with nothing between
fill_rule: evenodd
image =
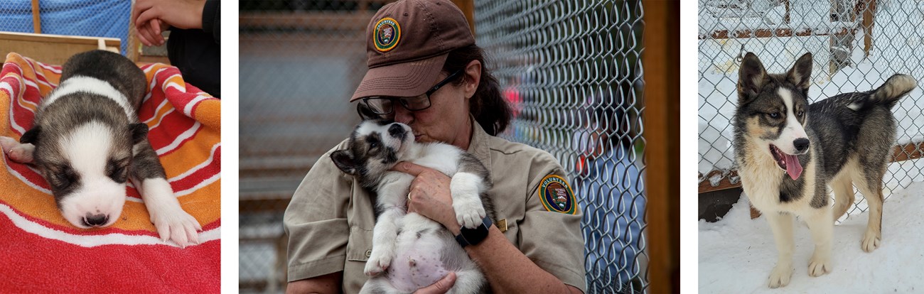
<instances>
[{"instance_id":1,"label":"woman's upper hand, wrapped around the puppy's chest above her watch","mask_svg":"<svg viewBox=\"0 0 924 294\"><path fill-rule=\"evenodd\" d=\"M426 216L458 235L460 226L453 209L452 192L449 190L451 178L435 169L408 162L400 162L392 170L415 177L410 184L408 213Z\"/></svg>"}]
</instances>

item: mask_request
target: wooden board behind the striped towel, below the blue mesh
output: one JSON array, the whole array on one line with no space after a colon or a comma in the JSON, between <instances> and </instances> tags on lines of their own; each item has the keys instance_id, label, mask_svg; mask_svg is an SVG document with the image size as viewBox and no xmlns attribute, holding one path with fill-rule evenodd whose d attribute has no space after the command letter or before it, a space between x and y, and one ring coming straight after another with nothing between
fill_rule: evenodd
<instances>
[{"instance_id":1,"label":"wooden board behind the striped towel, below the blue mesh","mask_svg":"<svg viewBox=\"0 0 924 294\"><path fill-rule=\"evenodd\" d=\"M0 31L0 56L4 59L15 52L50 65L62 65L71 55L93 49L119 53L120 46L116 38Z\"/></svg>"}]
</instances>

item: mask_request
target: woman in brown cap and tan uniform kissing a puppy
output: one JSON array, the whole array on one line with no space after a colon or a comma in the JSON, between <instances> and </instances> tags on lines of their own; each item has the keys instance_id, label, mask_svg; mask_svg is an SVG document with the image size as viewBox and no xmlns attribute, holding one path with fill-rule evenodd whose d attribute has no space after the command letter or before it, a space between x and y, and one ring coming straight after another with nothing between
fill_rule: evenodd
<instances>
[{"instance_id":1,"label":"woman in brown cap and tan uniform kissing a puppy","mask_svg":"<svg viewBox=\"0 0 924 294\"><path fill-rule=\"evenodd\" d=\"M563 168L546 152L494 137L510 107L462 12L449 1L383 6L367 29L369 72L350 101L387 99L382 116L407 124L417 141L442 141L477 157L492 173L488 191L496 226L465 247L494 292L580 293L585 288L581 213ZM400 98L396 98L400 97ZM380 100L381 102L381 100ZM477 123L476 123L477 122ZM332 151L342 149L344 143ZM460 230L450 178L419 165L395 170L416 177L409 212ZM358 292L374 227L372 199L323 155L286 209L289 292ZM419 292L441 293L455 276Z\"/></svg>"}]
</instances>

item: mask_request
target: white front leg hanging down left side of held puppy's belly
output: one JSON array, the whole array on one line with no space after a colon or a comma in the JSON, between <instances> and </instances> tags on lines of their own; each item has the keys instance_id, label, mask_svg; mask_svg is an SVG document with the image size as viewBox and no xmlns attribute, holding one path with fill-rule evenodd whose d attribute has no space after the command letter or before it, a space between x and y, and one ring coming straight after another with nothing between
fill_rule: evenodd
<instances>
[{"instance_id":1,"label":"white front leg hanging down left side of held puppy's belly","mask_svg":"<svg viewBox=\"0 0 924 294\"><path fill-rule=\"evenodd\" d=\"M407 214L407 191L413 176L390 172L385 174L378 189L376 199L382 211L372 228L372 252L363 273L366 276L378 276L391 265L395 257L395 242L401 217Z\"/></svg>"}]
</instances>

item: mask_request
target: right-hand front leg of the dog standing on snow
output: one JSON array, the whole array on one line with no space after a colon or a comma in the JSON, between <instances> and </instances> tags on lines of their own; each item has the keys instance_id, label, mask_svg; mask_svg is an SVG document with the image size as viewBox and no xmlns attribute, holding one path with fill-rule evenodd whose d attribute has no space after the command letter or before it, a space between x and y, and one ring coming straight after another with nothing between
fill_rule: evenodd
<instances>
[{"instance_id":1,"label":"right-hand front leg of the dog standing on snow","mask_svg":"<svg viewBox=\"0 0 924 294\"><path fill-rule=\"evenodd\" d=\"M825 195L827 197L827 195ZM815 241L815 252L808 261L808 276L821 276L831 272L831 242L834 224L831 206L822 206L806 219L811 239Z\"/></svg>"}]
</instances>

